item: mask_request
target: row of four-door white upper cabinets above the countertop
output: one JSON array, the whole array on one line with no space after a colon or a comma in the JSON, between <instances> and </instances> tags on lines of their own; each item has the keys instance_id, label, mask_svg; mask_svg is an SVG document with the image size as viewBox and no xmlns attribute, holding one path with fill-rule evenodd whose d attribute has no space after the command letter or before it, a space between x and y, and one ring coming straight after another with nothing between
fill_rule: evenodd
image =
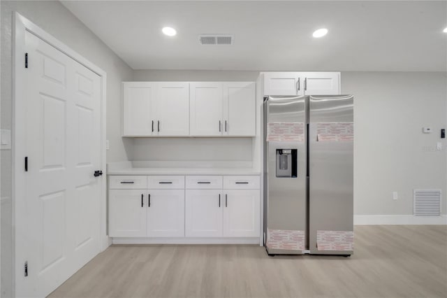
<instances>
[{"instance_id":1,"label":"row of four-door white upper cabinets above the countertop","mask_svg":"<svg viewBox=\"0 0 447 298\"><path fill-rule=\"evenodd\" d=\"M255 136L254 82L124 82L123 136Z\"/></svg>"}]
</instances>

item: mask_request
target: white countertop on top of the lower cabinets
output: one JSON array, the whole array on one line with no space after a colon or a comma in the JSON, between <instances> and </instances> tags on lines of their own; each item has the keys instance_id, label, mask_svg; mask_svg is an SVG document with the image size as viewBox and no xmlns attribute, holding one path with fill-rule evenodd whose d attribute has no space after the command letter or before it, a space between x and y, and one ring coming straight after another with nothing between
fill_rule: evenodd
<instances>
[{"instance_id":1,"label":"white countertop on top of the lower cabinets","mask_svg":"<svg viewBox=\"0 0 447 298\"><path fill-rule=\"evenodd\" d=\"M108 175L260 175L248 167L135 167L130 162L109 164Z\"/></svg>"}]
</instances>

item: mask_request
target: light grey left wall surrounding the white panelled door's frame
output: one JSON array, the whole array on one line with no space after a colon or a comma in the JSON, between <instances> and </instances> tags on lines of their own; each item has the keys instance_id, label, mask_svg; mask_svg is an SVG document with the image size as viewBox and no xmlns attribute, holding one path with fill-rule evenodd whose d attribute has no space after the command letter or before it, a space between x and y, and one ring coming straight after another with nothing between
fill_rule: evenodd
<instances>
[{"instance_id":1,"label":"light grey left wall surrounding the white panelled door's frame","mask_svg":"<svg viewBox=\"0 0 447 298\"><path fill-rule=\"evenodd\" d=\"M11 128L12 115L12 16L27 17L76 52L107 72L108 162L127 159L121 138L121 81L130 80L132 69L119 59L59 1L1 1L1 128ZM11 151L1 151L1 296L11 297Z\"/></svg>"}]
</instances>

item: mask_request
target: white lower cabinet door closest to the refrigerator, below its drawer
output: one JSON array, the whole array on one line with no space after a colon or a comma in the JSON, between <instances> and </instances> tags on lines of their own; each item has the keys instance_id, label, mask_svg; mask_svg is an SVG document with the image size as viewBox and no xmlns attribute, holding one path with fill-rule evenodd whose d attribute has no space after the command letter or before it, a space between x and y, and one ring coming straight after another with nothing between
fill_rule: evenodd
<instances>
[{"instance_id":1,"label":"white lower cabinet door closest to the refrigerator, below its drawer","mask_svg":"<svg viewBox=\"0 0 447 298\"><path fill-rule=\"evenodd\" d=\"M258 237L259 190L223 190L223 236Z\"/></svg>"}]
</instances>

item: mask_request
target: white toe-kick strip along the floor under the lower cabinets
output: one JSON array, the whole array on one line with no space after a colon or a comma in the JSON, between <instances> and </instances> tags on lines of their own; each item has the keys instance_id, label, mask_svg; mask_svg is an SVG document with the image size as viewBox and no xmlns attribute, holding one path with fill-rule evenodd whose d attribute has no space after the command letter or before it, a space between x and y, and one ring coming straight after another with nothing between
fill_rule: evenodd
<instances>
[{"instance_id":1,"label":"white toe-kick strip along the floor under the lower cabinets","mask_svg":"<svg viewBox=\"0 0 447 298\"><path fill-rule=\"evenodd\" d=\"M259 244L259 237L112 237L112 244Z\"/></svg>"}]
</instances>

